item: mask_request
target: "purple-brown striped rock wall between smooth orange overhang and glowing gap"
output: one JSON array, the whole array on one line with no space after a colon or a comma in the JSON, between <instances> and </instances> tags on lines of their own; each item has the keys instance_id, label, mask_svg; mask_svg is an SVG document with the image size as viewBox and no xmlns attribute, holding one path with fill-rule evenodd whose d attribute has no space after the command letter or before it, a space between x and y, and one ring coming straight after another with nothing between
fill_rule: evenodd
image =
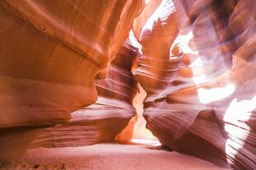
<instances>
[{"instance_id":1,"label":"purple-brown striped rock wall between smooth orange overhang and glowing gap","mask_svg":"<svg viewBox=\"0 0 256 170\"><path fill-rule=\"evenodd\" d=\"M111 62L107 79L96 80L96 103L73 112L69 123L46 129L31 147L81 146L113 141L136 113L132 99L137 91L137 81L131 73L136 54L135 48L129 45L121 47Z\"/></svg>"}]
</instances>

